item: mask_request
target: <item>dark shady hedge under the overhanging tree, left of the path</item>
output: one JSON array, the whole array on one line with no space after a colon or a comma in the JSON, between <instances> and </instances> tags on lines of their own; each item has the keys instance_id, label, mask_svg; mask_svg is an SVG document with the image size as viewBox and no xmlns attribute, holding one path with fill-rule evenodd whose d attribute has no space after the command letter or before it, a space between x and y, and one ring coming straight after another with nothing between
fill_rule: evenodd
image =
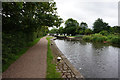
<instances>
[{"instance_id":1,"label":"dark shady hedge under the overhanging tree, left of the path","mask_svg":"<svg viewBox=\"0 0 120 80\"><path fill-rule=\"evenodd\" d=\"M43 35L41 35L43 36ZM23 31L4 33L2 32L2 66L3 71L17 59L20 52L30 47L30 43L33 43L37 39L37 33L31 32L31 34L24 33ZM6 66L7 65L7 66Z\"/></svg>"}]
</instances>

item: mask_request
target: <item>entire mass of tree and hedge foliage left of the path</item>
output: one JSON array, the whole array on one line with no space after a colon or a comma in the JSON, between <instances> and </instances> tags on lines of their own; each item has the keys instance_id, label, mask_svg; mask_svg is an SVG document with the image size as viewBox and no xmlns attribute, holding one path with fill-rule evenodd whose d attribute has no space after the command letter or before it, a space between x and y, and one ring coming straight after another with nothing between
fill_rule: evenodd
<instances>
[{"instance_id":1,"label":"entire mass of tree and hedge foliage left of the path","mask_svg":"<svg viewBox=\"0 0 120 80\"><path fill-rule=\"evenodd\" d=\"M24 48L48 33L48 27L60 26L56 3L50 2L3 2L2 3L2 63L18 56Z\"/></svg>"}]
</instances>

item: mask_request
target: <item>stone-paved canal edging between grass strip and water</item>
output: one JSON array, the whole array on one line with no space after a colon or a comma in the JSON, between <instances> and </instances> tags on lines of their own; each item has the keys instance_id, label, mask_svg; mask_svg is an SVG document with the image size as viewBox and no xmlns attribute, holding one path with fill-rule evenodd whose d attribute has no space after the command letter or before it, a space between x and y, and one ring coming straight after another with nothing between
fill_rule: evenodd
<instances>
[{"instance_id":1,"label":"stone-paved canal edging between grass strip and water","mask_svg":"<svg viewBox=\"0 0 120 80\"><path fill-rule=\"evenodd\" d=\"M59 50L59 48L56 46L54 39L51 39L51 49L52 49L52 53L54 54L55 57L55 61L57 64L57 67L59 67L59 70L62 74L65 75L64 72L69 73L73 76L71 77L67 77L67 78L81 78L84 79L84 77L80 74L80 72L69 62L69 60L64 56L64 54ZM61 62L57 62L57 57L61 57ZM65 68L67 69L61 69L61 67L66 66ZM60 67L61 66L61 67ZM65 75L67 76L67 75ZM65 77L66 78L66 77Z\"/></svg>"}]
</instances>

